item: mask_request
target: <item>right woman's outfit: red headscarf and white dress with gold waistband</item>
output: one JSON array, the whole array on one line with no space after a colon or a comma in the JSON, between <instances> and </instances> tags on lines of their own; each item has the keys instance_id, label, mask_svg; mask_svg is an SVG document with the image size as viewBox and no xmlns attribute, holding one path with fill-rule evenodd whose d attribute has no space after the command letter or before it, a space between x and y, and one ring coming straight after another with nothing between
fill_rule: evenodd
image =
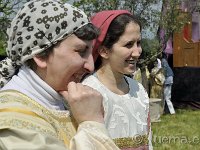
<instances>
[{"instance_id":1,"label":"right woman's outfit: red headscarf and white dress with gold waistband","mask_svg":"<svg viewBox=\"0 0 200 150\"><path fill-rule=\"evenodd\" d=\"M92 23L99 27L101 32L93 43L94 60L98 57L98 48L103 43L110 24L121 14L130 14L130 12L126 10L102 11L92 17ZM124 78L129 85L129 92L125 95L118 95L109 90L99 81L96 72L87 76L82 83L103 95L106 128L120 149L152 149L148 95L140 83L126 76Z\"/></svg>"}]
</instances>

